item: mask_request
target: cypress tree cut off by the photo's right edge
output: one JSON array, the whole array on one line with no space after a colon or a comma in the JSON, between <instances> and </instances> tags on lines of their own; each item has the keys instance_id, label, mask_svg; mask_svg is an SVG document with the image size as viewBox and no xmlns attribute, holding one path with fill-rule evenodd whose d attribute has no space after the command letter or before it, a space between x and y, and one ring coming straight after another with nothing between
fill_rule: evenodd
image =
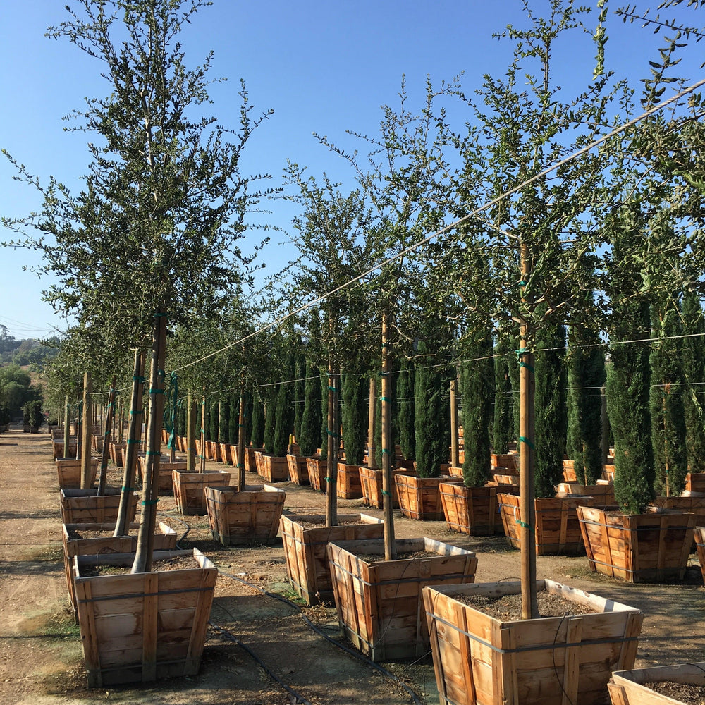
<instances>
[{"instance_id":1,"label":"cypress tree cut off by the photo's right edge","mask_svg":"<svg viewBox=\"0 0 705 705\"><path fill-rule=\"evenodd\" d=\"M694 292L683 295L683 417L685 449L690 472L705 472L705 317Z\"/></svg>"}]
</instances>

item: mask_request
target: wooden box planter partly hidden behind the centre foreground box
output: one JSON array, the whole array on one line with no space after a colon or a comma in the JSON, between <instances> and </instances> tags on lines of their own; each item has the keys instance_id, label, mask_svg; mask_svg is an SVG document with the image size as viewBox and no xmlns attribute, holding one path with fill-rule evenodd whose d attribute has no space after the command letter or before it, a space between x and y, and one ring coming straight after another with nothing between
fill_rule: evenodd
<instances>
[{"instance_id":1,"label":"wooden box planter partly hidden behind the centre foreground box","mask_svg":"<svg viewBox=\"0 0 705 705\"><path fill-rule=\"evenodd\" d=\"M366 514L339 514L335 527L327 527L326 517L320 514L282 515L279 526L286 575L296 594L309 605L333 603L333 581L326 552L329 541L381 539L384 536L384 522Z\"/></svg>"}]
</instances>

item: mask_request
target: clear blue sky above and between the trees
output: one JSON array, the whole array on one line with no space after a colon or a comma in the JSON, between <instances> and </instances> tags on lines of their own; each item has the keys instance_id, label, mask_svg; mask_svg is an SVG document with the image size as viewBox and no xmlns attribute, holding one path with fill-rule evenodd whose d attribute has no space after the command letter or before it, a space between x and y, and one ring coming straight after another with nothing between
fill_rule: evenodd
<instances>
[{"instance_id":1,"label":"clear blue sky above and between the trees","mask_svg":"<svg viewBox=\"0 0 705 705\"><path fill-rule=\"evenodd\" d=\"M650 5L639 3L640 8ZM97 61L66 40L44 37L47 26L66 18L63 6L61 0L0 4L0 147L36 176L46 180L53 174L76 191L87 171L87 140L63 131L62 118L84 97L104 95L107 84L99 77ZM532 7L540 14L546 2L537 0ZM701 23L701 16L687 8L666 10L662 16ZM228 78L212 87L212 114L219 121L237 125L240 78L257 109L274 109L247 145L244 171L272 173L276 183L290 159L312 175L326 171L352 185L343 161L312 133L364 149L345 130L374 134L380 106L398 102L403 74L414 109L421 104L427 75L439 83L465 72L462 83L470 92L483 74L501 75L510 60L510 42L499 42L492 33L526 21L519 0L215 0L188 27L183 44L190 63L213 49L212 75ZM608 68L638 85L663 40L613 15L608 35ZM700 78L702 58L701 45L693 44L682 70L693 82ZM588 37L582 44L560 47L559 82L567 89L587 85L593 68L594 45ZM453 117L460 121L466 116ZM0 214L23 216L37 209L40 200L12 176L11 166L0 159ZM278 201L269 208L271 222L286 229L290 205ZM0 240L6 238L8 233L0 231ZM293 257L281 244L286 235L273 240L262 253L270 273ZM37 262L33 252L0 250L0 324L18 339L48 336L64 325L41 300L50 281L22 271L23 265Z\"/></svg>"}]
</instances>

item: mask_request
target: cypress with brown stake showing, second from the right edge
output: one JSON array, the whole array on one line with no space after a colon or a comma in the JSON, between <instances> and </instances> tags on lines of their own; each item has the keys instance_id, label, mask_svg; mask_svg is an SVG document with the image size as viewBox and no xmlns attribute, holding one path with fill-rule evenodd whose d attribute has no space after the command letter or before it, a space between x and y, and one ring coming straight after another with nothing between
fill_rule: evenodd
<instances>
[{"instance_id":1,"label":"cypress with brown stake showing, second from the right edge","mask_svg":"<svg viewBox=\"0 0 705 705\"><path fill-rule=\"evenodd\" d=\"M685 486L685 410L680 307L675 298L651 307L651 438L654 444L654 489L661 496L679 495ZM673 338L665 340L663 338Z\"/></svg>"}]
</instances>

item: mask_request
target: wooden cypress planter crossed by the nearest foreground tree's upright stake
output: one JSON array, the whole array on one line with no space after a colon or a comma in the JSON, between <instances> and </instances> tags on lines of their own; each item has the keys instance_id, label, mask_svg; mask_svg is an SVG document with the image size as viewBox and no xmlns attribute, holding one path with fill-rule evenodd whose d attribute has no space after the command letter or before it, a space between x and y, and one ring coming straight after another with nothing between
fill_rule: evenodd
<instances>
[{"instance_id":1,"label":"wooden cypress planter crossed by the nearest foreground tree's upright stake","mask_svg":"<svg viewBox=\"0 0 705 705\"><path fill-rule=\"evenodd\" d=\"M521 548L522 521L520 497L500 494L497 497L502 513L504 533L510 546ZM576 509L587 505L588 497L541 497L534 500L536 508L537 556L580 556L584 553L580 522Z\"/></svg>"}]
</instances>

